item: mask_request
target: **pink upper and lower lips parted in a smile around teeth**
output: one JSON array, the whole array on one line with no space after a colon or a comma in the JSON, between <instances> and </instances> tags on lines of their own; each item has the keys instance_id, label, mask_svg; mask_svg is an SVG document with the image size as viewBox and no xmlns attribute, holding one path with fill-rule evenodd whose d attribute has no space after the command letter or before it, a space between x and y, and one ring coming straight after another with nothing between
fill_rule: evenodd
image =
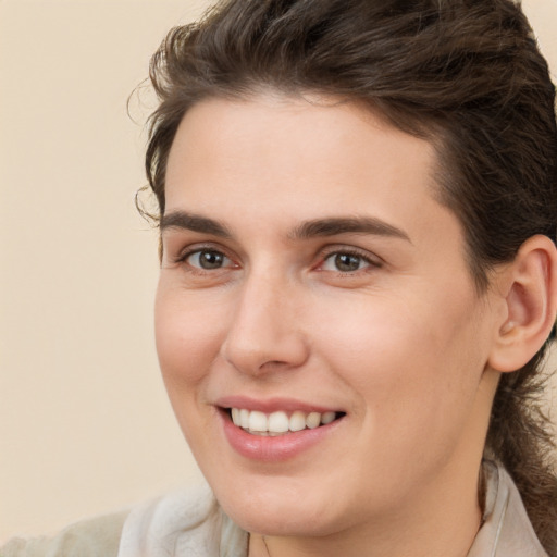
<instances>
[{"instance_id":1,"label":"pink upper and lower lips parted in a smile around teeth","mask_svg":"<svg viewBox=\"0 0 557 557\"><path fill-rule=\"evenodd\" d=\"M268 400L255 400L246 397L226 397L218 403L219 418L221 420L224 435L231 447L244 458L259 462L284 462L309 450L311 447L324 442L344 421L343 416L326 425L320 425L313 430L302 430L286 433L278 436L252 435L242 428L234 425L226 408L243 408L258 410L265 413L283 410L293 412L326 412L334 411L331 408L301 403L299 400L273 398Z\"/></svg>"}]
</instances>

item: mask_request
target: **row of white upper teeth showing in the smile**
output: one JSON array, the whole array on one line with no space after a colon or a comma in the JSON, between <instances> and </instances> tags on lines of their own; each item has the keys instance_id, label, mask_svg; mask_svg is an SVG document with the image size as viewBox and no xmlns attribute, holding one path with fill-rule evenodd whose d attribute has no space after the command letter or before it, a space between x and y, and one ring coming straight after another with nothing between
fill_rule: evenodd
<instances>
[{"instance_id":1,"label":"row of white upper teeth showing in the smile","mask_svg":"<svg viewBox=\"0 0 557 557\"><path fill-rule=\"evenodd\" d=\"M231 408L231 416L234 425L237 425L256 435L282 435L287 432L296 432L306 428L314 430L319 425L326 425L333 422L336 412L310 412L305 413L296 410L290 414L284 411L265 414L258 410L246 410L245 408Z\"/></svg>"}]
</instances>

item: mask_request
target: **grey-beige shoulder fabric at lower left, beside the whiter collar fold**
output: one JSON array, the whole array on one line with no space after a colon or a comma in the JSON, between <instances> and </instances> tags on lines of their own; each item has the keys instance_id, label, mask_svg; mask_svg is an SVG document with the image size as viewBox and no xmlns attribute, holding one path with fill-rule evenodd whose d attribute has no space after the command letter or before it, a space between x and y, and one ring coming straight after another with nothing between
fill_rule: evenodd
<instances>
[{"instance_id":1,"label":"grey-beige shoulder fabric at lower left, beside the whiter collar fold","mask_svg":"<svg viewBox=\"0 0 557 557\"><path fill-rule=\"evenodd\" d=\"M128 511L71 524L53 537L14 537L0 547L0 557L115 557Z\"/></svg>"}]
</instances>

